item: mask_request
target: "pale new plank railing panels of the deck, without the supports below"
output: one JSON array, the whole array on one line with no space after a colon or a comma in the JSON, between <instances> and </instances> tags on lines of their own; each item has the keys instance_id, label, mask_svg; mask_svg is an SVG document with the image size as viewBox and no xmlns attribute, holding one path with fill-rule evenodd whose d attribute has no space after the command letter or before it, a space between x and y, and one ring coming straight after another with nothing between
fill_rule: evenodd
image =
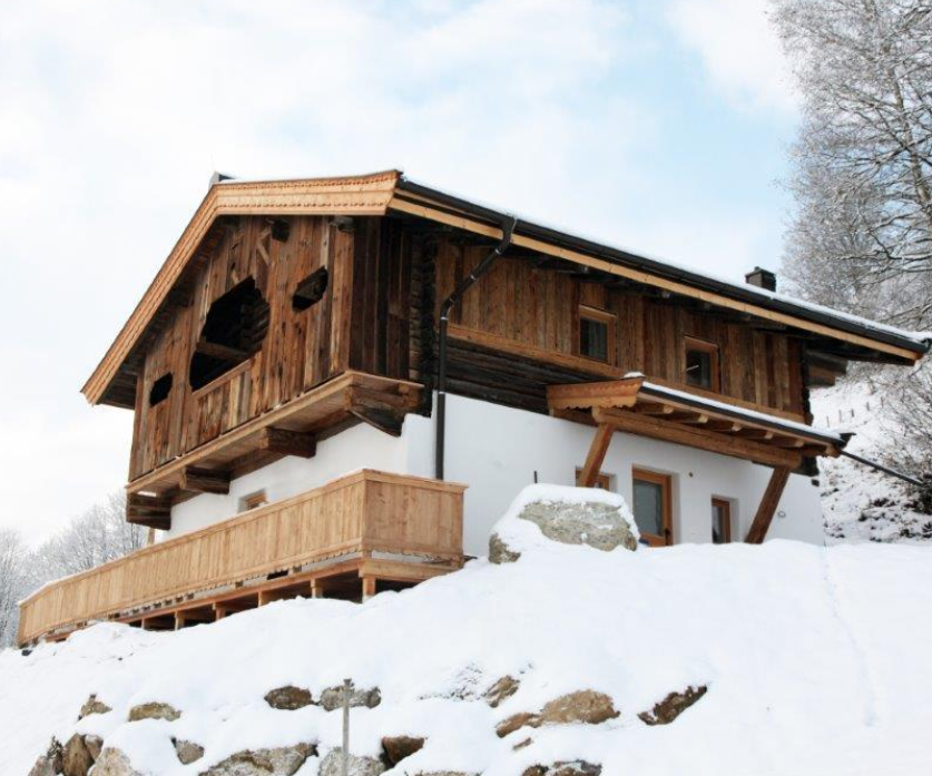
<instances>
[{"instance_id":1,"label":"pale new plank railing panels of the deck, without the supports below","mask_svg":"<svg viewBox=\"0 0 932 776\"><path fill-rule=\"evenodd\" d=\"M37 590L19 642L141 606L367 553L462 559L464 487L363 470Z\"/></svg>"}]
</instances>

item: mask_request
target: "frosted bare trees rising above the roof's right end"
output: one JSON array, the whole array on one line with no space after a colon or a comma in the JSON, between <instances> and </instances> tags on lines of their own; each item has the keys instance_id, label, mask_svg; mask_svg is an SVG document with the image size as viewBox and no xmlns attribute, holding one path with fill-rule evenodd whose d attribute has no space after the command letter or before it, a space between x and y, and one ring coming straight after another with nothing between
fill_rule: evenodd
<instances>
[{"instance_id":1,"label":"frosted bare trees rising above the roof's right end","mask_svg":"<svg viewBox=\"0 0 932 776\"><path fill-rule=\"evenodd\" d=\"M932 4L773 0L803 95L785 269L810 298L932 323Z\"/></svg>"}]
</instances>

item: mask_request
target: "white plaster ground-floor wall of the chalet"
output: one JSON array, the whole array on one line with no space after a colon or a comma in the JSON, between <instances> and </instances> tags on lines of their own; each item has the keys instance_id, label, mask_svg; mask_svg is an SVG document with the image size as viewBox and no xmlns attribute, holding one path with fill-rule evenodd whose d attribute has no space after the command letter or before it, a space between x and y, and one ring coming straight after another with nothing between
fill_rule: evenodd
<instances>
[{"instance_id":1,"label":"white plaster ground-floor wall of the chalet","mask_svg":"<svg viewBox=\"0 0 932 776\"><path fill-rule=\"evenodd\" d=\"M463 546L484 554L489 531L527 484L573 484L595 430L570 421L461 396L448 397L448 480L469 485ZM434 419L409 415L400 439L356 425L317 446L313 459L287 458L230 483L228 495L198 495L171 512L178 536L234 515L243 495L265 489L271 501L323 484L356 469L433 477ZM673 477L674 537L680 542L712 540L712 499L732 502L732 537L743 538L771 475L769 469L724 455L629 434L615 434L602 471L614 490L631 500L631 469ZM823 543L818 489L793 474L768 538Z\"/></svg>"}]
</instances>

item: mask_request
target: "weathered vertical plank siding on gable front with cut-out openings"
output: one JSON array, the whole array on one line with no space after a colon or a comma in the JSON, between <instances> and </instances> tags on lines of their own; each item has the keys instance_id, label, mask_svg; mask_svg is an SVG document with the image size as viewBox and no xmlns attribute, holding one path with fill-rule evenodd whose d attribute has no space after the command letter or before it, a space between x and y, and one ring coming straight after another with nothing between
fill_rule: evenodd
<instances>
[{"instance_id":1,"label":"weathered vertical plank siding on gable front with cut-out openings","mask_svg":"<svg viewBox=\"0 0 932 776\"><path fill-rule=\"evenodd\" d=\"M330 217L282 218L286 240L268 219L225 219L214 227L194 279L177 293L173 316L147 348L137 380L130 480L218 434L287 402L344 371L350 360L353 234ZM292 307L297 284L326 267L327 289L308 310ZM210 304L253 277L269 305L261 350L204 387L188 382L194 346ZM153 383L171 373L171 392L149 406Z\"/></svg>"}]
</instances>

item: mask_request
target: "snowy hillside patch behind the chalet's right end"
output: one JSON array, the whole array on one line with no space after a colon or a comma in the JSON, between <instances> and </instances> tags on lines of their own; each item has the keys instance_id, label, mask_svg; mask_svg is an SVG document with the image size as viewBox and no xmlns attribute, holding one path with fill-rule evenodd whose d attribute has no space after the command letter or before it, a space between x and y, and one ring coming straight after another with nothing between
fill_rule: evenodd
<instances>
[{"instance_id":1,"label":"snowy hillside patch behind the chalet's right end","mask_svg":"<svg viewBox=\"0 0 932 776\"><path fill-rule=\"evenodd\" d=\"M840 383L812 393L814 424L853 431L847 449L871 460L900 438L883 390L865 381ZM850 459L821 459L822 509L826 541L932 543L932 515L916 512L903 482Z\"/></svg>"}]
</instances>

